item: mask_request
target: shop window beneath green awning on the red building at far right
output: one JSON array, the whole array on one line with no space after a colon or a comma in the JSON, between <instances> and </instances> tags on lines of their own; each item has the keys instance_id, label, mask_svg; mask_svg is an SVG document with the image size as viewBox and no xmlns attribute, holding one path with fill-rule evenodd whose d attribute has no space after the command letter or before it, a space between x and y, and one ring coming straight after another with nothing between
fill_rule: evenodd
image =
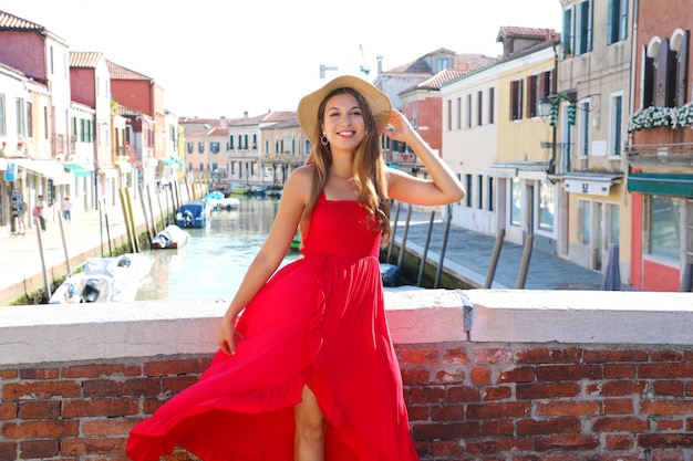
<instances>
[{"instance_id":1,"label":"shop window beneath green awning on the red building at far right","mask_svg":"<svg viewBox=\"0 0 693 461\"><path fill-rule=\"evenodd\" d=\"M681 201L668 196L650 196L649 201L649 253L654 256L679 260Z\"/></svg>"}]
</instances>

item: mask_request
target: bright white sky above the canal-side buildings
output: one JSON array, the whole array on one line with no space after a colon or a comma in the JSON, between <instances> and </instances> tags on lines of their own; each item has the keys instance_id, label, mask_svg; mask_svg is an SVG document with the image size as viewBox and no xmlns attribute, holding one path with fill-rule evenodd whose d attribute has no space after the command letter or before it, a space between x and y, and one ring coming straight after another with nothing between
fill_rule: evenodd
<instances>
[{"instance_id":1,"label":"bright white sky above the canal-side buildings","mask_svg":"<svg viewBox=\"0 0 693 461\"><path fill-rule=\"evenodd\" d=\"M71 51L152 77L179 117L296 111L342 74L377 75L441 48L501 54L500 27L560 31L559 0L0 0ZM320 66L325 71L320 78Z\"/></svg>"}]
</instances>

